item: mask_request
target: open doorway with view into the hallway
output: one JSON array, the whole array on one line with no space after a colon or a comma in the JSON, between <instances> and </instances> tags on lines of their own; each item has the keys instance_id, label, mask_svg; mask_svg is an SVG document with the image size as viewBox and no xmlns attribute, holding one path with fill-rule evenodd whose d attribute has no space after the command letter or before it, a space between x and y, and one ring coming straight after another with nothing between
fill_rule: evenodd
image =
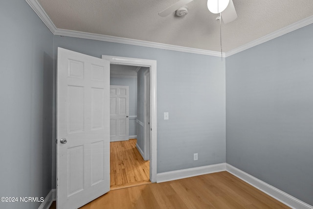
<instances>
[{"instance_id":1,"label":"open doorway with view into the hallway","mask_svg":"<svg viewBox=\"0 0 313 209\"><path fill-rule=\"evenodd\" d=\"M147 67L110 65L111 190L151 183L150 132L145 133L150 130L149 71Z\"/></svg>"}]
</instances>

